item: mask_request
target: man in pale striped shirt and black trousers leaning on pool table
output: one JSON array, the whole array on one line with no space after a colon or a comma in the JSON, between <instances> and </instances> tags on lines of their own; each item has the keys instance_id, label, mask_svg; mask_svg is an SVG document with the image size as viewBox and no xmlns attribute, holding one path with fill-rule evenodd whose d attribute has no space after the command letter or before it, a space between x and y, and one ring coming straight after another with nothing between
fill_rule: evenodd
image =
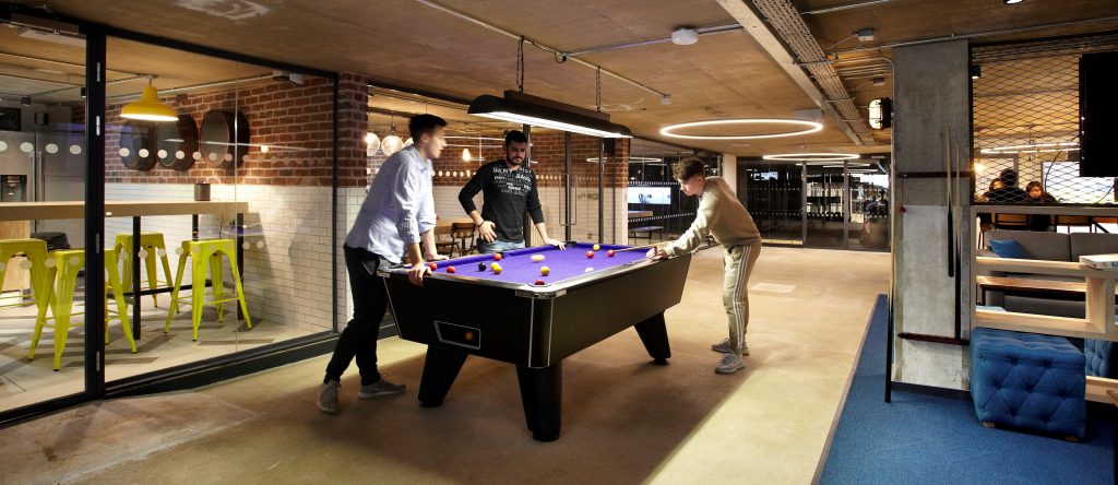
<instances>
[{"instance_id":1,"label":"man in pale striped shirt and black trousers leaning on pool table","mask_svg":"<svg viewBox=\"0 0 1118 485\"><path fill-rule=\"evenodd\" d=\"M369 196L361 205L357 221L345 237L345 269L353 293L353 320L338 337L334 354L319 390L319 409L338 412L341 377L357 358L361 389L357 397L370 399L404 392L402 384L382 379L377 370L377 334L388 305L388 293L377 276L377 268L411 263L408 279L423 286L429 272L424 258L445 259L435 253L435 207L432 196L432 159L446 148L446 122L434 115L411 117L408 130L415 144L394 153L372 180ZM420 251L419 242L427 248Z\"/></svg>"}]
</instances>

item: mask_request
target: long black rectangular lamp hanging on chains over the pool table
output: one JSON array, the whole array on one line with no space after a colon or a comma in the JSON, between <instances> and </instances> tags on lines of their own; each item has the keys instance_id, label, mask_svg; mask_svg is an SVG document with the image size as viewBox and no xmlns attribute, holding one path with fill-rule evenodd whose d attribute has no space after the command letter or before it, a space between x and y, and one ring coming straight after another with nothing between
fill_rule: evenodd
<instances>
[{"instance_id":1,"label":"long black rectangular lamp hanging on chains over the pool table","mask_svg":"<svg viewBox=\"0 0 1118 485\"><path fill-rule=\"evenodd\" d=\"M631 139L628 127L610 123L609 115L556 101L504 92L504 97L477 96L470 103L468 114L492 120L528 124L603 139Z\"/></svg>"}]
</instances>

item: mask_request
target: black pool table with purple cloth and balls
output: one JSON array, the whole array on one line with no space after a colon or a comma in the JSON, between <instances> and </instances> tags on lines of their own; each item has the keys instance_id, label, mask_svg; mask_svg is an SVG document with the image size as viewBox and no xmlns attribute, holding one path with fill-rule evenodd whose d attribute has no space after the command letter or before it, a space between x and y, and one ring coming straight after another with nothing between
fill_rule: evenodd
<instances>
[{"instance_id":1,"label":"black pool table with purple cloth and balls","mask_svg":"<svg viewBox=\"0 0 1118 485\"><path fill-rule=\"evenodd\" d=\"M468 355L508 362L517 365L529 430L552 441L561 425L563 358L632 326L653 361L666 364L664 311L680 303L691 256L652 261L644 250L608 255L625 248L570 242L565 250L517 249L502 254L499 274L493 255L448 259L423 287L408 283L402 267L378 272L400 337L428 345L420 405L443 403Z\"/></svg>"}]
</instances>

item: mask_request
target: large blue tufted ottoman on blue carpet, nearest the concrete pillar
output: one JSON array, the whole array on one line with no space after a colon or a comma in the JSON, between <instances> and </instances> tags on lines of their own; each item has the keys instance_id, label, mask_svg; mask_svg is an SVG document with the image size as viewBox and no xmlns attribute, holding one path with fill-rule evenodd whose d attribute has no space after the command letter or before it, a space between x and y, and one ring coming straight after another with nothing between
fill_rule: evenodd
<instances>
[{"instance_id":1,"label":"large blue tufted ottoman on blue carpet, nearest the concrete pillar","mask_svg":"<svg viewBox=\"0 0 1118 485\"><path fill-rule=\"evenodd\" d=\"M1083 437L1083 353L1068 339L970 331L970 396L983 425Z\"/></svg>"}]
</instances>

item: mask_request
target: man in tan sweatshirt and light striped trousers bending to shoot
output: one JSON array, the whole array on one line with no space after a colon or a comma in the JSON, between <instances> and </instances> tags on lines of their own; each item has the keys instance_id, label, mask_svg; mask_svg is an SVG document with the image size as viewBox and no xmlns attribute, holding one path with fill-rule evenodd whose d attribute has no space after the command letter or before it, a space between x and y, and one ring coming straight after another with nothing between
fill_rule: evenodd
<instances>
[{"instance_id":1,"label":"man in tan sweatshirt and light striped trousers bending to shoot","mask_svg":"<svg viewBox=\"0 0 1118 485\"><path fill-rule=\"evenodd\" d=\"M741 355L749 355L746 345L746 326L749 325L749 274L761 253L761 237L754 218L738 201L730 186L721 177L704 177L705 167L699 159L681 160L672 165L672 177L680 182L686 196L699 196L699 210L694 222L679 239L648 250L651 259L662 259L693 251L710 235L722 245L722 305L730 323L730 336L711 345L722 353L714 368L718 373L731 373L746 367Z\"/></svg>"}]
</instances>

